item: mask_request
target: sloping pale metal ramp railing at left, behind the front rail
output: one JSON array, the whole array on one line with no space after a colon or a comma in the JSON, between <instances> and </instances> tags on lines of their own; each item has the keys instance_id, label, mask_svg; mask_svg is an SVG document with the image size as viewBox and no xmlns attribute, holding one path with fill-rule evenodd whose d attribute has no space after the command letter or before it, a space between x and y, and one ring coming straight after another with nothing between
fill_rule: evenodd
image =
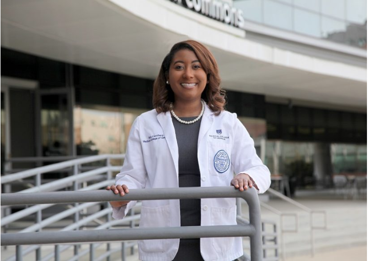
<instances>
[{"instance_id":1,"label":"sloping pale metal ramp railing at left, behind the front rail","mask_svg":"<svg viewBox=\"0 0 368 261\"><path fill-rule=\"evenodd\" d=\"M74 157L31 157L31 158L13 158L11 161L9 162L45 162L45 161L61 161L61 160L69 160L69 159L73 159ZM76 160L73 161L69 161L68 163L63 162L62 164L60 163L54 163L52 165L48 165L48 166L44 166L44 167L37 167L31 170L27 170L27 171L22 171L21 173L12 173L12 174L7 174L6 176L2 176L2 183L4 185L4 189L3 192L8 193L8 192L12 192L12 185L14 185L15 183L19 183L21 182L22 184L28 186L31 185L31 183L33 183L31 185L30 189L25 189L25 190L21 190L18 191L17 193L24 193L24 192L41 192L41 191L55 191L55 190L59 190L59 189L67 189L69 190L70 188L72 188L73 190L92 190L92 189L100 189L101 187L105 187L105 186L109 186L111 184L114 184L114 180L112 179L112 173L114 171L118 172L121 169L121 166L113 166L111 164L111 160L112 159L118 159L118 160L122 160L124 159L124 155L99 155L99 156L91 156L91 157L76 157ZM75 159L75 158L74 158ZM102 164L98 164L99 166L93 166L93 167L88 167L85 166L85 163L94 163L94 162L101 162ZM69 164L66 165L66 164ZM82 165L83 164L83 165ZM96 165L96 164L94 164ZM102 166L101 166L102 165ZM105 166L105 167L104 167ZM106 168L107 166L107 168ZM11 167L11 164L8 165L8 167ZM64 171L67 170L69 171L73 176L72 177L67 177L64 179L59 179L57 180L57 182L55 182L54 180L50 181L49 179L47 180L47 184L43 184L43 180L42 177L44 178L48 178L49 174L53 173L53 172L59 172L59 171ZM90 170L90 171L87 171ZM94 170L94 171L92 171ZM83 172L84 171L84 172ZM12 171L10 171L12 172ZM32 173L33 172L33 173ZM32 177L33 175L33 177ZM27 176L27 177L26 177ZM30 177L31 180L27 180L27 183L25 183L23 181L23 179ZM99 177L103 178L105 181L99 181L97 179L99 179ZM4 179L3 179L4 178ZM97 178L97 179L96 179ZM15 180L16 179L16 180ZM46 180L45 180L46 181ZM87 182L93 181L94 184L89 185L86 187ZM97 182L97 183L95 183ZM80 186L82 186L82 188L80 188ZM98 203L100 204L100 203ZM57 222L57 220L55 219L56 216L62 217L64 215L64 213L59 213L57 215L52 216L51 218L45 220L42 218L42 210L49 208L51 206L53 206L55 204L47 204L47 205L36 205L36 206L31 206L31 207L27 207L23 210L17 211L15 213L11 214L11 206L1 206L2 211L4 211L5 217L2 218L1 220L1 225L3 228L3 231L6 233L8 229L10 229L10 227L8 226L11 222L14 222L18 219L21 219L23 217L29 216L30 214L35 214L35 219L36 219L36 223L39 226L31 226L32 228L39 228L38 230L41 230L42 227L44 227L44 225L46 224L45 222ZM78 206L78 203L73 204L75 207ZM97 204L96 204L97 205ZM106 203L105 203L106 205ZM107 204L108 205L108 204ZM83 206L87 206L87 205L83 205ZM80 209L80 208L79 208ZM71 212L72 210L66 210L68 212ZM86 208L83 208L81 210L82 212L86 211ZM72 211L73 213L73 217L74 217L74 224L78 224L80 225L80 213L79 211ZM85 220L85 219L83 219ZM98 220L96 220L98 221ZM111 221L111 214L106 214L106 220L104 222L104 224L109 223L110 224ZM44 224L44 225L40 225L40 224ZM132 225L133 222L131 222ZM51 224L51 223L50 223ZM46 224L47 225L47 224ZM118 225L118 224L116 224ZM31 228L30 227L30 228ZM26 229L30 229L30 228L26 228ZM79 229L79 228L77 228ZM125 246L131 246L132 244L125 244ZM78 245L74 245L74 257L79 256L78 253ZM107 248L110 248L110 243L107 243ZM60 247L57 245L55 246L55 258L57 258L57 256L59 255L59 251L56 249L60 249ZM41 260L41 248L38 246L34 247L34 246L30 246L27 249L23 250L23 248L21 246L17 246L16 247L16 254L12 257L9 257L7 259L7 261L10 260L14 260L16 258L16 260L21 260L22 256L31 252L32 250L36 251L36 259ZM42 259L43 260L43 259Z\"/></svg>"}]
</instances>

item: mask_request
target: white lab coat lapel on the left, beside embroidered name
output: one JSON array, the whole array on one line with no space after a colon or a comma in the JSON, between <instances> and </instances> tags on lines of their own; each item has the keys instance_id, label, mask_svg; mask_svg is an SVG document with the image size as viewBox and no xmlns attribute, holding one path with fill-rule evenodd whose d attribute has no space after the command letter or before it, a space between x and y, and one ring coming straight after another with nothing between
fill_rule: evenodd
<instances>
[{"instance_id":1,"label":"white lab coat lapel on the left, beside embroidered name","mask_svg":"<svg viewBox=\"0 0 368 261\"><path fill-rule=\"evenodd\" d=\"M167 142L167 146L169 147L170 154L172 160L174 161L175 170L177 176L179 175L179 148L178 142L175 135L174 124L172 124L171 114L169 112L159 113L157 115L157 120L159 121Z\"/></svg>"}]
</instances>

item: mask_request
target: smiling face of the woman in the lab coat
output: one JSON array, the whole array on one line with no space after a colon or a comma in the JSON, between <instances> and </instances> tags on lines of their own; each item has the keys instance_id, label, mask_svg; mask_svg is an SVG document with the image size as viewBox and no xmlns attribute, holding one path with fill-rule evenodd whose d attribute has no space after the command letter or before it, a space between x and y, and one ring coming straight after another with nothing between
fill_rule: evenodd
<instances>
[{"instance_id":1,"label":"smiling face of the woman in the lab coat","mask_svg":"<svg viewBox=\"0 0 368 261\"><path fill-rule=\"evenodd\" d=\"M207 74L194 52L183 49L172 58L168 79L175 101L200 100Z\"/></svg>"}]
</instances>

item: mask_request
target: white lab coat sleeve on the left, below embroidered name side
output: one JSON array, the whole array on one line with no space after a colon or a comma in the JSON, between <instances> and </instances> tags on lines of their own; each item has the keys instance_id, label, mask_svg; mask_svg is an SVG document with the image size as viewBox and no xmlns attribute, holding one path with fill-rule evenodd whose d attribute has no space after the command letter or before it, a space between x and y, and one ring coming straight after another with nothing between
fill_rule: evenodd
<instances>
[{"instance_id":1,"label":"white lab coat sleeve on the left, below embroidered name side","mask_svg":"<svg viewBox=\"0 0 368 261\"><path fill-rule=\"evenodd\" d=\"M134 121L126 145L124 164L116 175L115 184L125 184L129 189L144 188L146 185L146 168L143 160L142 145L139 136L139 117ZM124 197L122 197L124 200ZM123 219L129 209L136 205L131 201L127 205L113 208L114 219Z\"/></svg>"}]
</instances>

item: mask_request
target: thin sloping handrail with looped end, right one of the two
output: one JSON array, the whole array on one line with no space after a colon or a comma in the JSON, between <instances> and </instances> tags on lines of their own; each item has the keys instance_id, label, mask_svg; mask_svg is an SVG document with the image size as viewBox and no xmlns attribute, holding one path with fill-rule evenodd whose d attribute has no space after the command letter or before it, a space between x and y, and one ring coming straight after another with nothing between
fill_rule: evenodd
<instances>
[{"instance_id":1,"label":"thin sloping handrail with looped end, right one of the two","mask_svg":"<svg viewBox=\"0 0 368 261\"><path fill-rule=\"evenodd\" d=\"M280 193L272 188L269 188L267 190L267 192L275 195L276 197L306 211L309 213L309 218L310 218L310 226L311 226L311 255L314 256L314 253L315 253L315 248L314 248L314 230L315 229L323 229L323 230L326 230L327 229L327 213L326 211L324 210L313 210L309 207L306 207L305 205L302 205L300 204L299 202L295 201L295 200L292 200L288 197L286 197L286 195L284 195L283 193ZM322 213L323 214L323 221L324 221L324 225L323 226L320 226L320 227L316 227L316 226L313 226L313 214L314 213ZM284 254L283 254L284 255Z\"/></svg>"}]
</instances>

